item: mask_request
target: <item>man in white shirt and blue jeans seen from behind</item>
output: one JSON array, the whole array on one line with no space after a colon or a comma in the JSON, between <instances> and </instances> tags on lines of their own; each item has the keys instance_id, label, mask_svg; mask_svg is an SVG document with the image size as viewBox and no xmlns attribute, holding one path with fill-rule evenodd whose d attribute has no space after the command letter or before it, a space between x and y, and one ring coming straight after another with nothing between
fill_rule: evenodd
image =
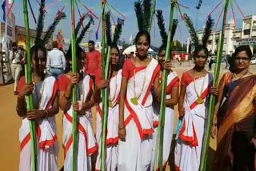
<instances>
[{"instance_id":1,"label":"man in white shirt and blue jeans seen from behind","mask_svg":"<svg viewBox=\"0 0 256 171\"><path fill-rule=\"evenodd\" d=\"M64 74L66 69L66 58L61 50L58 50L58 42L53 42L53 50L47 55L46 70L48 74L58 78Z\"/></svg>"}]
</instances>

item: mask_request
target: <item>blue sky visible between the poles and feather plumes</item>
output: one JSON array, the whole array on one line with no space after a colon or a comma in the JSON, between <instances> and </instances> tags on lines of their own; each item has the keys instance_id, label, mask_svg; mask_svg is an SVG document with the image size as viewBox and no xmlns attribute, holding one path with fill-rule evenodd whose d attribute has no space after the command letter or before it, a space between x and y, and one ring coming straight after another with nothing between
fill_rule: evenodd
<instances>
[{"instance_id":1,"label":"blue sky visible between the poles and feather plumes","mask_svg":"<svg viewBox=\"0 0 256 171\"><path fill-rule=\"evenodd\" d=\"M38 0L40 1L40 0ZM49 6L51 3L56 2L57 0L46 0L46 6ZM70 18L70 0L61 0L61 2L58 3L58 5L50 7L50 9L47 10L46 14L46 20L45 20L45 29L50 25L51 22L53 22L55 14L64 6L65 2L68 1L69 4L66 6L66 15L67 18L65 20L62 20L60 24L57 27L57 30L62 29L63 35L65 38L70 38L70 28L71 28L71 18ZM101 2L101 0L81 0L82 3L86 4L86 6L92 8L94 7L98 2ZM205 22L206 22L206 16L210 13L211 10L214 9L214 6L218 4L221 0L203 0L202 7L198 12L198 30L202 29ZM35 0L30 1L32 3L34 13L36 18L38 18L38 3ZM137 26L137 19L134 12L134 0L108 0L110 5L114 6L117 10L122 12L128 20L125 21L125 26L122 27L122 36L121 38L124 38L126 42L129 42L130 35L133 34L133 38L135 37L135 34L138 32L138 26ZM255 0L236 0L238 2L238 5L241 7L243 13L245 15L254 14L256 15L255 6L256 1ZM194 6L197 6L198 0L180 0L179 3L181 3L184 6L188 6L189 9L183 9L183 13L187 13L190 15L190 17L195 22L196 20L196 9ZM79 4L79 3L78 3ZM163 10L164 18L166 21L166 29L167 26L169 26L169 14L170 14L170 0L157 0L157 10ZM218 20L218 16L221 13L222 7L224 6L224 3L218 8L218 10L214 11L214 14L212 15L215 19L215 23ZM86 9L82 6L79 6L79 9L81 13L86 13ZM238 12L238 9L236 6L234 6L235 14L238 22L238 28L242 26L242 15ZM94 10L94 13L99 17L101 15L101 6L98 6ZM120 15L115 13L114 19L117 20L117 18L122 18ZM14 15L16 17L16 25L18 26L24 26L24 19L23 19L23 10L22 10L22 1L15 1L14 3ZM78 21L79 15L78 10L76 9L76 21ZM175 18L178 18L180 30L177 29L174 39L178 39L179 41L185 42L186 38L189 38L188 31L186 29L186 26L184 22L181 20L180 16L176 13ZM229 10L228 19L232 18L231 8ZM90 30L93 30L94 33L90 34L90 39L95 40L95 31L98 26L98 20L94 20L95 24L94 26L90 27ZM86 21L87 22L87 21ZM195 23L194 23L195 24ZM220 27L221 23L218 27ZM32 18L32 15L30 14L30 28L35 28L36 25L34 23L34 20ZM87 34L84 38L83 42L88 41L89 35ZM101 31L99 31L99 40L101 39ZM153 23L152 29L151 29L151 42L153 46L161 46L161 38L159 35L157 20L155 19L155 24Z\"/></svg>"}]
</instances>

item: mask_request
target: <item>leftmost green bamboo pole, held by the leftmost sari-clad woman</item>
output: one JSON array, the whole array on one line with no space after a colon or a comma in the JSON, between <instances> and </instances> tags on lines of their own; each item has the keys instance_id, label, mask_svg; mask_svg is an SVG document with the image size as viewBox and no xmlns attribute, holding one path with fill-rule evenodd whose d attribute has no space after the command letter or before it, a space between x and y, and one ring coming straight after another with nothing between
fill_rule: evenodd
<instances>
[{"instance_id":1,"label":"leftmost green bamboo pole, held by the leftmost sari-clad woman","mask_svg":"<svg viewBox=\"0 0 256 171\"><path fill-rule=\"evenodd\" d=\"M27 10L27 0L23 0L23 12L26 27L26 66L25 66L25 79L26 84L32 82L32 68L31 68L31 54L30 54L30 22ZM26 109L34 109L33 95L26 96ZM30 121L30 139L31 139L31 164L32 171L38 169L38 148L37 148L37 133L35 121Z\"/></svg>"}]
</instances>

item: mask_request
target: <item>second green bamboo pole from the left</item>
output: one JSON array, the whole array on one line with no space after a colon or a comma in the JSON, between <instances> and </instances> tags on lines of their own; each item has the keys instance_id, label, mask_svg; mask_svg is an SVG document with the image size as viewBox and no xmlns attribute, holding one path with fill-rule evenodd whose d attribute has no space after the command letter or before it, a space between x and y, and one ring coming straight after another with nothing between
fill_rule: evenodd
<instances>
[{"instance_id":1,"label":"second green bamboo pole from the left","mask_svg":"<svg viewBox=\"0 0 256 171\"><path fill-rule=\"evenodd\" d=\"M75 18L74 18L74 0L70 0L71 2L71 51L72 51L72 73L78 73L77 70L77 57L76 57L76 38L74 34L75 30ZM78 101L78 85L74 85L72 92L72 102L73 104ZM73 171L78 170L78 113L73 110L73 121L72 121L72 129L73 129Z\"/></svg>"}]
</instances>

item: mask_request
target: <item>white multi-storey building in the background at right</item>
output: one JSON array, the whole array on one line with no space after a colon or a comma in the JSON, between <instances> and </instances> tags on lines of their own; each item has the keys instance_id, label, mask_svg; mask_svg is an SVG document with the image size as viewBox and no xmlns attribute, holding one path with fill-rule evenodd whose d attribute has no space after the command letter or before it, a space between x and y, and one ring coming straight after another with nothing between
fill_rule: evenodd
<instances>
[{"instance_id":1,"label":"white multi-storey building in the background at right","mask_svg":"<svg viewBox=\"0 0 256 171\"><path fill-rule=\"evenodd\" d=\"M208 50L211 54L217 51L218 40L221 31L213 32L208 42ZM202 40L203 30L198 31L198 38ZM256 54L256 15L250 15L243 18L242 29L236 29L234 19L226 24L223 55L233 54L235 48L241 45L248 45Z\"/></svg>"}]
</instances>

